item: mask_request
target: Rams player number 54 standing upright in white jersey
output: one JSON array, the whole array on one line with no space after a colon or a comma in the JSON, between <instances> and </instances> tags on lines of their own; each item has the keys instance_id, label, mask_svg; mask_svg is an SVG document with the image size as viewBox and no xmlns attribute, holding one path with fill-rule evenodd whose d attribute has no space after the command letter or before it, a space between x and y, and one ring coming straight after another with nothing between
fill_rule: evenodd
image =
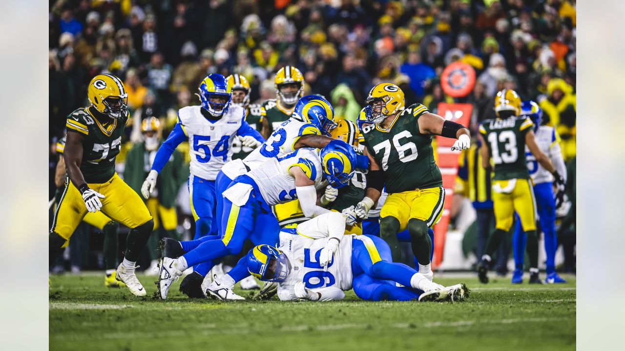
<instances>
[{"instance_id":1,"label":"Rams player number 54 standing upright in white jersey","mask_svg":"<svg viewBox=\"0 0 625 351\"><path fill-rule=\"evenodd\" d=\"M232 142L242 137L242 144L257 147L264 142L261 134L247 124L246 112L232 105L232 87L221 74L210 74L199 85L201 106L187 106L178 111L178 121L167 140L159 148L152 169L141 187L143 196L156 187L156 178L174 149L186 139L191 154L191 175L188 186L191 211L196 220L195 239L216 234L213 223L216 210L215 179L221 167L232 157Z\"/></svg>"}]
</instances>

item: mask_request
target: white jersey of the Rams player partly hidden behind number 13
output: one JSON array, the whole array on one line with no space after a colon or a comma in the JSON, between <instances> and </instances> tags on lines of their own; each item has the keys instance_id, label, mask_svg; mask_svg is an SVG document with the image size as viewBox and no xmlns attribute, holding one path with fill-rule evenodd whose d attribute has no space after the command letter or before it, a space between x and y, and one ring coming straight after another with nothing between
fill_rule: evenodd
<instances>
[{"instance_id":1,"label":"white jersey of the Rams player partly hidden behind number 13","mask_svg":"<svg viewBox=\"0 0 625 351\"><path fill-rule=\"evenodd\" d=\"M544 154L549 156L557 172L562 175L562 177L566 177L566 166L562 159L559 141L560 137L553 127L538 127L536 131L536 144L538 144L538 147ZM553 182L554 178L551 172L544 169L544 167L536 161L536 158L529 152L527 146L525 147L525 155L527 158L527 171L529 171L529 175L532 177L532 182L534 184Z\"/></svg>"}]
</instances>

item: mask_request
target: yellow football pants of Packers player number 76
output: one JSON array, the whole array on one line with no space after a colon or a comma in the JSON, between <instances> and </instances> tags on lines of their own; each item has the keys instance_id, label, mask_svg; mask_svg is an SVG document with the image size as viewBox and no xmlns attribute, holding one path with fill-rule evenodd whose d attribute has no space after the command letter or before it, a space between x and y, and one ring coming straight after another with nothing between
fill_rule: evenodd
<instances>
[{"instance_id":1,"label":"yellow football pants of Packers player number 76","mask_svg":"<svg viewBox=\"0 0 625 351\"><path fill-rule=\"evenodd\" d=\"M380 217L395 217L399 220L399 232L406 230L412 218L426 222L428 227L441 219L445 204L443 187L416 189L389 194L380 211Z\"/></svg>"}]
</instances>

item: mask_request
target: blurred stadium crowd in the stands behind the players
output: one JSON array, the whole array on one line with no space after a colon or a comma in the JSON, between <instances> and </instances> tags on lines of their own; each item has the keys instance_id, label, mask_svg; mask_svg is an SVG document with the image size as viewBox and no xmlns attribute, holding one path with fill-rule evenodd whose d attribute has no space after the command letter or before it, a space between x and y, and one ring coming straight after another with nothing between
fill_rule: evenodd
<instances>
[{"instance_id":1,"label":"blurred stadium crowd in the stands behind the players","mask_svg":"<svg viewBox=\"0 0 625 351\"><path fill-rule=\"evenodd\" d=\"M129 92L133 118L117 160L121 175L125 152L141 141L141 121L157 117L166 137L176 111L199 104L194 92L207 74L247 77L251 102L262 102L276 97L274 75L286 65L304 74L305 94L329 98L338 119L354 121L372 86L394 82L407 104L422 102L434 113L439 102L471 103L472 134L480 121L494 117L496 92L514 89L523 100L539 102L544 123L556 127L564 159L574 167L575 5L574 0L51 0L50 198L56 190L55 146L66 117L88 105L87 84L102 72L121 77ZM444 94L440 84L442 70L454 61L470 64L477 76L473 91L460 99ZM184 190L184 174L179 182ZM464 193L469 197L469 190ZM182 225L189 215L184 202L188 207L188 197L179 201L179 232L192 225L188 218ZM93 255L81 258L90 240L83 237L87 244L73 250L78 258L72 265L101 266Z\"/></svg>"}]
</instances>

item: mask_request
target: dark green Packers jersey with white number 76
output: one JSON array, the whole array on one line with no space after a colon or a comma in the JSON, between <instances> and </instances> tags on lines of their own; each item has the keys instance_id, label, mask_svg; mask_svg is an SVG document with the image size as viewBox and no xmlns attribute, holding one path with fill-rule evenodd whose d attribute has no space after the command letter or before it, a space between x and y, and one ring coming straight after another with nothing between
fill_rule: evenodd
<instances>
[{"instance_id":1,"label":"dark green Packers jersey with white number 76","mask_svg":"<svg viewBox=\"0 0 625 351\"><path fill-rule=\"evenodd\" d=\"M367 151L382 166L389 194L442 186L432 136L419 132L419 117L427 112L427 107L414 104L404 109L389 129L377 124L362 128Z\"/></svg>"}]
</instances>

